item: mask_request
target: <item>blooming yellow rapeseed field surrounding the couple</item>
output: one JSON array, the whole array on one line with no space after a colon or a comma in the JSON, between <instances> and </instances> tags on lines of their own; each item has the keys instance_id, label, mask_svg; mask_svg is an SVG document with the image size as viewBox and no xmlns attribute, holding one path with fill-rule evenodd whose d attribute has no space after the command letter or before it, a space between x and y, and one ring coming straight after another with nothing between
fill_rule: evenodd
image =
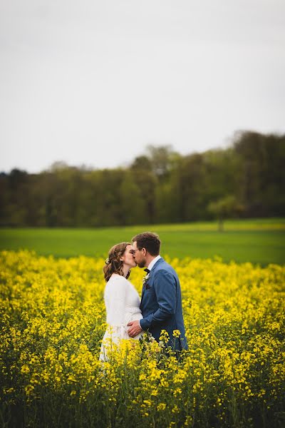
<instances>
[{"instance_id":1,"label":"blooming yellow rapeseed field surrounding the couple","mask_svg":"<svg viewBox=\"0 0 285 428\"><path fill-rule=\"evenodd\" d=\"M104 260L0 253L1 426L281 427L285 267L167 261L189 350L177 360L162 332L103 364Z\"/></svg>"}]
</instances>

